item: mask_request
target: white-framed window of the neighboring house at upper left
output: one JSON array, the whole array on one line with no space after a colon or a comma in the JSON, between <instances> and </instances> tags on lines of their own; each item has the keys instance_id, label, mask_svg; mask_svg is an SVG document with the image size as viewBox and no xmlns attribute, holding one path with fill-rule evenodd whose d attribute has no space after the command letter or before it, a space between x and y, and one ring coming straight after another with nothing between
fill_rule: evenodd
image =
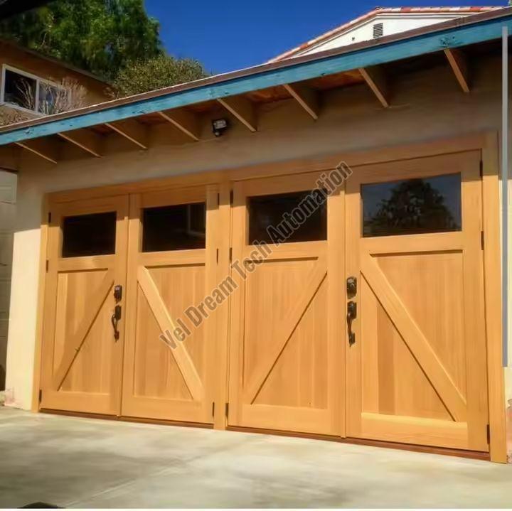
<instances>
[{"instance_id":1,"label":"white-framed window of the neighboring house at upper left","mask_svg":"<svg viewBox=\"0 0 512 511\"><path fill-rule=\"evenodd\" d=\"M60 112L65 90L54 83L4 66L1 80L0 103L36 114Z\"/></svg>"}]
</instances>

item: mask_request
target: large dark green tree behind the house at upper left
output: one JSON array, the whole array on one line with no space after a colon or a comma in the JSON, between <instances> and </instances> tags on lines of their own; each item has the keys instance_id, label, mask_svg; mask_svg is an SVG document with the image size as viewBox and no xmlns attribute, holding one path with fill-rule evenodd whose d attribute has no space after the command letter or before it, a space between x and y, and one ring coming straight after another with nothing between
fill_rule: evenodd
<instances>
[{"instance_id":1,"label":"large dark green tree behind the house at upper left","mask_svg":"<svg viewBox=\"0 0 512 511\"><path fill-rule=\"evenodd\" d=\"M143 0L58 0L0 23L0 37L112 80L134 60L164 54Z\"/></svg>"}]
</instances>

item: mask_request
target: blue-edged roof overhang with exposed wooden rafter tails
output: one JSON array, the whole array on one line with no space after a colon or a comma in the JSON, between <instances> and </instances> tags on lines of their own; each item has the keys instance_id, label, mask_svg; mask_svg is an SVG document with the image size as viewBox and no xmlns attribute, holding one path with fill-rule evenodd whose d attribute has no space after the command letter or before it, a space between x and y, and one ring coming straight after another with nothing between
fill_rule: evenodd
<instances>
[{"instance_id":1,"label":"blue-edged roof overhang with exposed wooden rafter tails","mask_svg":"<svg viewBox=\"0 0 512 511\"><path fill-rule=\"evenodd\" d=\"M361 71L364 80L368 82L380 102L383 106L387 106L383 88L379 86L381 81L379 73L375 73L373 70L378 71L380 65L397 60L443 51L447 53L450 65L454 68L456 75L458 74L457 80L461 78L459 82L464 89L464 66L460 63L459 55L456 55L457 48L499 39L503 26L507 26L509 33L512 33L512 8L476 14L469 18L388 36L379 41L368 41L314 55L268 63L72 112L32 119L28 122L0 128L0 146L8 144L23 146L32 139L54 135L66 138L65 134L70 131L88 129L98 125L104 127L106 125L110 129L118 131L119 134L123 134L122 130L116 129L116 123L119 122L132 122L128 131L133 129L137 131L135 124L139 123L133 124L133 121L129 119L148 114L161 115L179 127L181 131L188 132L192 138L197 139L193 134L193 129L187 127L190 124L188 119L183 120L183 114L190 113L183 112L183 107L212 101L222 104L251 131L255 131L255 125L252 123L250 114L247 113L250 108L248 108L244 95L260 90L270 90L272 87L284 87L289 91L290 96L297 99L302 107L311 114L311 117L315 117L314 101L310 100L308 92L302 90L301 84L297 82L326 79L331 75L353 70ZM457 68L459 68L458 72ZM368 71L366 75L365 70ZM175 111L176 118L173 115ZM130 133L124 133L124 136L146 149L142 141L137 141L137 136L132 136ZM78 143L75 141L75 145L82 146L83 144L80 141ZM95 154L95 151L90 150L89 152ZM95 156L97 155L95 154Z\"/></svg>"}]
</instances>

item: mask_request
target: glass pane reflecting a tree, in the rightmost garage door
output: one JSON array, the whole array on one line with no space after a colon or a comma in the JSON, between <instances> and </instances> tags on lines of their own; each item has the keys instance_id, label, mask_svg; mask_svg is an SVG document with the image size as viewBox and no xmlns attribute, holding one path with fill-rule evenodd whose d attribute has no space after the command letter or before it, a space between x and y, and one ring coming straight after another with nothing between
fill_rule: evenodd
<instances>
[{"instance_id":1,"label":"glass pane reflecting a tree, in the rightmost garage door","mask_svg":"<svg viewBox=\"0 0 512 511\"><path fill-rule=\"evenodd\" d=\"M462 228L460 174L363 185L361 195L364 237Z\"/></svg>"}]
</instances>

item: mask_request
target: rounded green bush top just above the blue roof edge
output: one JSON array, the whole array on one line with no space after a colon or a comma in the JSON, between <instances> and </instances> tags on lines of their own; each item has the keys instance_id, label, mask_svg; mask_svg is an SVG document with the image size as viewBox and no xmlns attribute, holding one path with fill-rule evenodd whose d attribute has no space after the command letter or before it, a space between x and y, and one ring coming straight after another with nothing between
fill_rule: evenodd
<instances>
[{"instance_id":1,"label":"rounded green bush top just above the blue roof edge","mask_svg":"<svg viewBox=\"0 0 512 511\"><path fill-rule=\"evenodd\" d=\"M124 97L191 82L206 76L208 73L197 60L159 55L156 58L131 63L119 72L113 85L117 96Z\"/></svg>"}]
</instances>

